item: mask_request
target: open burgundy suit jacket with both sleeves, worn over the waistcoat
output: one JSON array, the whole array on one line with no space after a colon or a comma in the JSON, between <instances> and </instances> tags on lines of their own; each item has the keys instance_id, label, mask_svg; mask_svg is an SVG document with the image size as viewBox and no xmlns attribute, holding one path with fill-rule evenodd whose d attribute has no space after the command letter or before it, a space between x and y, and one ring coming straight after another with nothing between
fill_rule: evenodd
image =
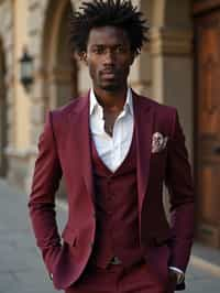
<instances>
[{"instance_id":1,"label":"open burgundy suit jacket with both sleeves, worn over the waistcoat","mask_svg":"<svg viewBox=\"0 0 220 293\"><path fill-rule=\"evenodd\" d=\"M167 265L185 271L194 235L194 192L177 111L134 93L133 102L141 246L146 260L154 263L158 248L167 245ZM164 150L152 153L155 132L168 141ZM29 208L56 289L66 289L80 276L92 251L96 207L89 145L89 95L48 113L40 137ZM62 176L68 204L63 243L54 209ZM170 227L163 207L164 183L170 195Z\"/></svg>"}]
</instances>

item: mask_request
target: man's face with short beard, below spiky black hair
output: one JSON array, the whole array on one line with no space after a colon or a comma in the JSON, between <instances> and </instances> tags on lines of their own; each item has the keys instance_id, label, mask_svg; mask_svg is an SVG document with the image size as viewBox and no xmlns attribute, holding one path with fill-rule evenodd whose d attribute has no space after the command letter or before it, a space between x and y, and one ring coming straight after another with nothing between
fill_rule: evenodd
<instances>
[{"instance_id":1,"label":"man's face with short beard, below spiky black hair","mask_svg":"<svg viewBox=\"0 0 220 293\"><path fill-rule=\"evenodd\" d=\"M85 61L95 89L124 88L133 58L129 37L122 29L101 26L90 31Z\"/></svg>"}]
</instances>

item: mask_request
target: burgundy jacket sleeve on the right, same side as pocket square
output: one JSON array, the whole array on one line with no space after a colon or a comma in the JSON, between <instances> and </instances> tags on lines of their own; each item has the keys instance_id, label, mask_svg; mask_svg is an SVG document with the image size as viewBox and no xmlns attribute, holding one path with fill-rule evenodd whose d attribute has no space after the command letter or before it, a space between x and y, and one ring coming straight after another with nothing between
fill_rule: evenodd
<instances>
[{"instance_id":1,"label":"burgundy jacket sleeve on the right, same side as pocket square","mask_svg":"<svg viewBox=\"0 0 220 293\"><path fill-rule=\"evenodd\" d=\"M172 258L169 265L182 271L190 257L194 238L194 186L185 137L175 111L168 143L165 180L170 196Z\"/></svg>"}]
</instances>

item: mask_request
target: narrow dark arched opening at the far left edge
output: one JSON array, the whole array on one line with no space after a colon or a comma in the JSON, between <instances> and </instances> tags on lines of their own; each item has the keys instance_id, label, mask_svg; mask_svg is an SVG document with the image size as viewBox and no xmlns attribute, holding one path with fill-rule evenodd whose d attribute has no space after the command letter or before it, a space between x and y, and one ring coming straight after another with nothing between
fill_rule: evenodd
<instances>
[{"instance_id":1,"label":"narrow dark arched opening at the far left edge","mask_svg":"<svg viewBox=\"0 0 220 293\"><path fill-rule=\"evenodd\" d=\"M2 43L0 42L0 176L7 175L7 95L6 95L6 63Z\"/></svg>"}]
</instances>

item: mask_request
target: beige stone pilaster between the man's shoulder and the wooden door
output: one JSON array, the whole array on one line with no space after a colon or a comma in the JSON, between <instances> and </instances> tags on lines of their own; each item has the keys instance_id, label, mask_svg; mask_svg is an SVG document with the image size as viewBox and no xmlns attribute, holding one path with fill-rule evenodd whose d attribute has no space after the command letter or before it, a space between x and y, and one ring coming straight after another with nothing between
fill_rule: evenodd
<instances>
[{"instance_id":1,"label":"beige stone pilaster between the man's shoulder and the wooden door","mask_svg":"<svg viewBox=\"0 0 220 293\"><path fill-rule=\"evenodd\" d=\"M193 154L193 31L154 28L151 35L152 95L177 108Z\"/></svg>"}]
</instances>

